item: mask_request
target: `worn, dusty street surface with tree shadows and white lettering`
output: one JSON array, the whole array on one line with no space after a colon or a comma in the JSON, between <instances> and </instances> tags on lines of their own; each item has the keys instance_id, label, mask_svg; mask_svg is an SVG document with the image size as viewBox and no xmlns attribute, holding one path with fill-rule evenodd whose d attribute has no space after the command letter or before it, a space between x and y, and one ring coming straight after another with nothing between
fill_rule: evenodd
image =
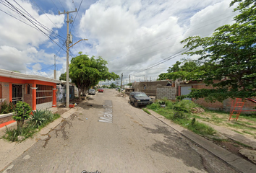
<instances>
[{"instance_id":1,"label":"worn, dusty street surface with tree shadows and white lettering","mask_svg":"<svg viewBox=\"0 0 256 173\"><path fill-rule=\"evenodd\" d=\"M168 125L106 89L6 172L235 172Z\"/></svg>"}]
</instances>

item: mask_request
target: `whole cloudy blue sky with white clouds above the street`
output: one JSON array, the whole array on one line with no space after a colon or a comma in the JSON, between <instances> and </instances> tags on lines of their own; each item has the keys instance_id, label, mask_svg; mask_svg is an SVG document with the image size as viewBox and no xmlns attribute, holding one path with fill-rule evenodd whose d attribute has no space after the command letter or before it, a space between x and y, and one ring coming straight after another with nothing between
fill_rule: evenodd
<instances>
[{"instance_id":1,"label":"whole cloudy blue sky with white clouds above the street","mask_svg":"<svg viewBox=\"0 0 256 173\"><path fill-rule=\"evenodd\" d=\"M0 0L0 68L57 78L66 71L67 14L78 52L101 56L124 84L155 80L181 58L180 41L231 24L231 0ZM195 57L194 57L195 58Z\"/></svg>"}]
</instances>

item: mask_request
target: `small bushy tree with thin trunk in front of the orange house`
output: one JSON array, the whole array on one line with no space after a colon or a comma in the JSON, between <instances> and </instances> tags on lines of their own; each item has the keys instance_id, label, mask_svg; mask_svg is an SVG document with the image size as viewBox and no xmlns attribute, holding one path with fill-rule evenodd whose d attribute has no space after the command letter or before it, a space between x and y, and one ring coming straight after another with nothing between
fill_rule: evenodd
<instances>
[{"instance_id":1,"label":"small bushy tree with thin trunk in front of the orange house","mask_svg":"<svg viewBox=\"0 0 256 173\"><path fill-rule=\"evenodd\" d=\"M14 111L15 114L12 116L12 119L17 121L17 130L20 133L25 120L31 115L32 108L26 102L17 102Z\"/></svg>"}]
</instances>

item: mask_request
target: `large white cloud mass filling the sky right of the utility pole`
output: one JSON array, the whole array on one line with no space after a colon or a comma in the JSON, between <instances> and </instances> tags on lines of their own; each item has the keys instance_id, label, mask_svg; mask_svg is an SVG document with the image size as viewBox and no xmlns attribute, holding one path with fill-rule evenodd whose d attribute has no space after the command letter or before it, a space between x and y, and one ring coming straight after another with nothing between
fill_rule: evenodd
<instances>
[{"instance_id":1,"label":"large white cloud mass filling the sky right of the utility pole","mask_svg":"<svg viewBox=\"0 0 256 173\"><path fill-rule=\"evenodd\" d=\"M180 41L190 35L208 36L216 27L231 23L231 0L98 1L83 12L79 30L85 32L96 56L108 61L117 74L159 66L134 76L158 76L181 58Z\"/></svg>"}]
</instances>

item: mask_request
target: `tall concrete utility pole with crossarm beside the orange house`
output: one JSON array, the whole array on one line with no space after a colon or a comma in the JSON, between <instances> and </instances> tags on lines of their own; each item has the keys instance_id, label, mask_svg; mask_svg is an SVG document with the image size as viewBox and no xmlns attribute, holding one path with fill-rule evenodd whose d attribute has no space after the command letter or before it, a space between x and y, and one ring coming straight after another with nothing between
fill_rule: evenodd
<instances>
[{"instance_id":1,"label":"tall concrete utility pole with crossarm beside the orange house","mask_svg":"<svg viewBox=\"0 0 256 173\"><path fill-rule=\"evenodd\" d=\"M77 12L77 8L75 9L75 11L72 11L72 12ZM59 15L60 14L67 14L67 40L66 40L66 46L67 46L67 78L66 78L66 107L69 107L69 22L70 24L73 22L73 20L69 20L69 13L72 13L72 12L64 12L61 13L59 12Z\"/></svg>"}]
</instances>

